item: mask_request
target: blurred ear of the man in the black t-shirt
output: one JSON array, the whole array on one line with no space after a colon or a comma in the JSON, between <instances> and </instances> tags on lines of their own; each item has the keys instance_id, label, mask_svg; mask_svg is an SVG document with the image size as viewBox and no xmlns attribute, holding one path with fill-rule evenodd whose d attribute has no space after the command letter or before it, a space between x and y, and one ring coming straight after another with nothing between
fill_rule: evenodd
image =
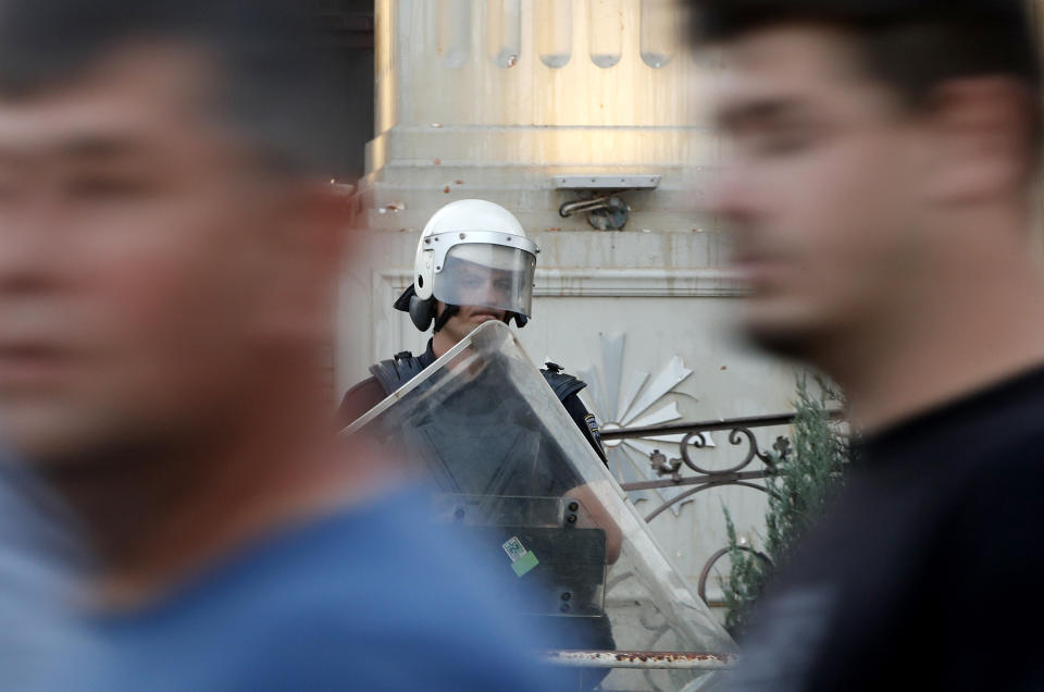
<instances>
[{"instance_id":1,"label":"blurred ear of the man in the black t-shirt","mask_svg":"<svg viewBox=\"0 0 1044 692\"><path fill-rule=\"evenodd\" d=\"M925 106L927 188L939 203L969 203L1024 189L1035 152L1029 99L1015 79L940 85Z\"/></svg>"}]
</instances>

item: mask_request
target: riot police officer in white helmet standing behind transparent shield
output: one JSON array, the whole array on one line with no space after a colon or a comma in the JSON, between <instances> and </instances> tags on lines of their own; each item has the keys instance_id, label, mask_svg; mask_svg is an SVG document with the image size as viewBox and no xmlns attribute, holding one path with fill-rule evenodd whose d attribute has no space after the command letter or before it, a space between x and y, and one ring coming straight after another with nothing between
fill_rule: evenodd
<instances>
[{"instance_id":1,"label":"riot police officer in white helmet standing behind transparent shield","mask_svg":"<svg viewBox=\"0 0 1044 692\"><path fill-rule=\"evenodd\" d=\"M435 212L418 243L413 281L395 301L395 308L408 312L417 329L432 329L427 347L419 356L403 351L371 367L372 376L345 395L341 422L348 425L363 416L483 322L513 320L524 326L532 314L538 251L519 221L493 202L465 199ZM547 363L540 372L605 462L594 416L576 396L585 384L555 363ZM439 390L435 401L422 411L412 411L409 423L401 429L401 421L394 418L389 424L396 431L396 444L409 458L423 462L434 486L443 493L504 497L523 505L530 503L526 498L539 502L551 497L582 503L588 514L579 521L573 517L574 529L546 536L556 543L561 541L551 554L570 551L571 556L547 560L545 591L554 590L552 584L558 586L551 594L556 615L562 607L587 610L585 617L555 617L554 625L546 628L548 645L614 648L609 619L597 605L596 594L602 584L605 564L614 563L620 553L620 530L562 457L561 448L545 438L533 420L520 416L518 403L505 398L505 376L507 373L495 362L486 362L470 373L462 388ZM585 532L585 528L596 531ZM537 530L530 535L539 540L539 533ZM557 601L562 584L568 584L564 590L570 598L561 602L566 606ZM540 590L532 593L540 603L547 595ZM540 611L543 606L534 607ZM591 684L602 675L595 675Z\"/></svg>"}]
</instances>

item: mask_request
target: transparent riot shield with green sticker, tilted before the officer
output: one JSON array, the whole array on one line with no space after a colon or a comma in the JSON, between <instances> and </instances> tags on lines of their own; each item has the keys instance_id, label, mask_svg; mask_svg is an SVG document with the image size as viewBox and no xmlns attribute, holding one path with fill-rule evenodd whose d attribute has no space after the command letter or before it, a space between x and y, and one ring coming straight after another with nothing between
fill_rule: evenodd
<instances>
[{"instance_id":1,"label":"transparent riot shield with green sticker, tilted before the officer","mask_svg":"<svg viewBox=\"0 0 1044 692\"><path fill-rule=\"evenodd\" d=\"M498 555L548 650L735 651L506 325L481 325L346 434L432 481L434 516ZM612 668L577 689L709 689L717 675Z\"/></svg>"}]
</instances>

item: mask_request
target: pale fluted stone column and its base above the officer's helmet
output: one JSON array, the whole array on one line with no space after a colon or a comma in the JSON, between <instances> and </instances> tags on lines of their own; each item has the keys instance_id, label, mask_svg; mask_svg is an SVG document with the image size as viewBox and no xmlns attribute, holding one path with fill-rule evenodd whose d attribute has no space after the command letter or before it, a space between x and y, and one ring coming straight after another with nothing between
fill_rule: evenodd
<instances>
[{"instance_id":1,"label":"pale fluted stone column and its base above the officer's helmet","mask_svg":"<svg viewBox=\"0 0 1044 692\"><path fill-rule=\"evenodd\" d=\"M659 189L625 196L629 223L691 232L693 162L716 159L693 124L713 73L682 13L675 0L380 0L371 226L482 197L526 227L589 231L558 217L575 195L555 175L656 174Z\"/></svg>"}]
</instances>

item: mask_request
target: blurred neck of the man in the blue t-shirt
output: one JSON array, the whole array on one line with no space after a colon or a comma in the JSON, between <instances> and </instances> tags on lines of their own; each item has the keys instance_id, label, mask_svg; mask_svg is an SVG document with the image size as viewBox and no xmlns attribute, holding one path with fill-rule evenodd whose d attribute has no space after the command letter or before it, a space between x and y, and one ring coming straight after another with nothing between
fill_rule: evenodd
<instances>
[{"instance_id":1,"label":"blurred neck of the man in the blue t-shirt","mask_svg":"<svg viewBox=\"0 0 1044 692\"><path fill-rule=\"evenodd\" d=\"M244 411L222 435L52 479L99 553L103 606L133 607L237 545L398 482L353 445L335 445L331 410L283 401Z\"/></svg>"}]
</instances>

